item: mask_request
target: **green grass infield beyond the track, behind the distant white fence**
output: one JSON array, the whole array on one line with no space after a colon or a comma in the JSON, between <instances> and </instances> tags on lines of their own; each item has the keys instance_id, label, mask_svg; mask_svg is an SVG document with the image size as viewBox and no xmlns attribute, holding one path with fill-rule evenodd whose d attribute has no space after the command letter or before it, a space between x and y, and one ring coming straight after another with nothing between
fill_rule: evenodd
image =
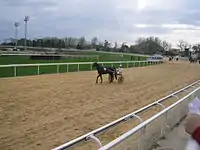
<instances>
[{"instance_id":1,"label":"green grass infield beyond the track, behind the distant white fence","mask_svg":"<svg viewBox=\"0 0 200 150\"><path fill-rule=\"evenodd\" d=\"M8 64L36 64L36 63L65 63L65 62L94 62L94 61L130 61L131 55L126 54L109 54L109 53L97 53L97 52L80 52L80 55L98 55L99 60L94 58L63 58L61 60L31 60L29 56L0 56L0 65L8 65ZM142 61L146 60L146 57L141 56L132 56L132 60L134 61ZM104 64L110 66L111 64ZM122 64L123 67L127 67L127 64ZM147 64L138 64L132 63L129 64L128 67L137 67L144 66ZM114 64L115 67L119 66L119 63ZM83 65L61 65L61 66L40 66L38 71L38 66L31 67L17 67L16 75L17 76L26 76L26 75L37 75L39 74L51 74L51 73L64 73L64 72L73 72L77 71L79 68L80 71L93 70L90 64ZM12 77L14 76L15 71L14 67L1 68L0 67L0 77Z\"/></svg>"}]
</instances>

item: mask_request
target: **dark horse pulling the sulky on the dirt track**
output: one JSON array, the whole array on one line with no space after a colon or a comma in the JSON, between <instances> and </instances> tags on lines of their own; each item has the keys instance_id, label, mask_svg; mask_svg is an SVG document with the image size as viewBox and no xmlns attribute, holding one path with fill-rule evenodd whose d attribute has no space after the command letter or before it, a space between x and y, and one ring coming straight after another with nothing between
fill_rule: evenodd
<instances>
[{"instance_id":1,"label":"dark horse pulling the sulky on the dirt track","mask_svg":"<svg viewBox=\"0 0 200 150\"><path fill-rule=\"evenodd\" d=\"M114 76L115 76L115 79L117 80L117 73L116 73L116 69L114 67L103 67L96 62L92 64L92 67L95 67L97 69L97 72L98 72L96 83L98 83L99 77L101 78L101 83L102 83L102 81L103 81L102 75L103 74L109 74L109 76L111 77L110 83L113 82Z\"/></svg>"}]
</instances>

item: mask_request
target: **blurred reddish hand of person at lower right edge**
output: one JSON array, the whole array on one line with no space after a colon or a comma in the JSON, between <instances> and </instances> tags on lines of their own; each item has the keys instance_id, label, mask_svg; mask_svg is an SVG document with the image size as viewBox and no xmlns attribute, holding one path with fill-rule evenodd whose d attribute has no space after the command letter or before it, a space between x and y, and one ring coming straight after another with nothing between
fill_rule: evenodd
<instances>
[{"instance_id":1,"label":"blurred reddish hand of person at lower right edge","mask_svg":"<svg viewBox=\"0 0 200 150\"><path fill-rule=\"evenodd\" d=\"M185 131L192 135L198 127L200 127L200 115L190 114L186 118Z\"/></svg>"}]
</instances>

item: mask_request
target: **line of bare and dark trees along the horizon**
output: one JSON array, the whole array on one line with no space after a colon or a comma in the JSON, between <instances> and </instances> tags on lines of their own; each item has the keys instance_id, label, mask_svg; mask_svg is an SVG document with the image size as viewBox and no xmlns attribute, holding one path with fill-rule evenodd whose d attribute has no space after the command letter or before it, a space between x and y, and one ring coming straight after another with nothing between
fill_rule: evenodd
<instances>
[{"instance_id":1,"label":"line of bare and dark trees along the horizon","mask_svg":"<svg viewBox=\"0 0 200 150\"><path fill-rule=\"evenodd\" d=\"M25 39L17 41L18 46L24 46ZM2 45L15 46L15 39L4 41ZM27 40L27 46L30 47L45 47L45 48L75 48L75 49L96 49L97 51L113 51L113 52L129 52L139 54L166 54L177 55L181 53L184 56L189 55L189 50L193 49L195 52L200 52L200 44L191 45L183 40L178 41L177 47L179 49L172 49L169 42L163 41L158 37L138 38L134 45L127 45L125 42L120 46L117 42L111 43L108 40L99 41L97 37L87 41L85 37L73 38L57 38L46 37L33 40Z\"/></svg>"}]
</instances>

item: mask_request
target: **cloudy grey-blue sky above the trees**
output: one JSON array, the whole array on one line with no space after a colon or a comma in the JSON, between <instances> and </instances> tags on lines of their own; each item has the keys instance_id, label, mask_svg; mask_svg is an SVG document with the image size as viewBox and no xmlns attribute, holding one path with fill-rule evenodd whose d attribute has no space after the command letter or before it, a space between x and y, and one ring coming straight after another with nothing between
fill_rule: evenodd
<instances>
[{"instance_id":1,"label":"cloudy grey-blue sky above the trees","mask_svg":"<svg viewBox=\"0 0 200 150\"><path fill-rule=\"evenodd\" d=\"M29 15L28 38L47 36L134 43L157 36L174 46L200 40L200 0L0 0L0 40L14 37L14 22Z\"/></svg>"}]
</instances>

